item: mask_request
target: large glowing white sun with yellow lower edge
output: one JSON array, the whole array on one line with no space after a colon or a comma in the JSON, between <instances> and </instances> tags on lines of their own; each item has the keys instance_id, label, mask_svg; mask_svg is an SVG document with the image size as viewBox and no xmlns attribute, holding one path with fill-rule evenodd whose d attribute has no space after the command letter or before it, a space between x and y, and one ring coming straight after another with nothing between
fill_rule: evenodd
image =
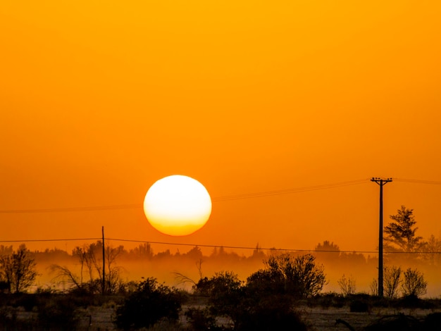
<instances>
[{"instance_id":1,"label":"large glowing white sun with yellow lower edge","mask_svg":"<svg viewBox=\"0 0 441 331\"><path fill-rule=\"evenodd\" d=\"M144 213L149 223L166 235L191 235L209 220L210 194L192 177L164 177L147 191Z\"/></svg>"}]
</instances>

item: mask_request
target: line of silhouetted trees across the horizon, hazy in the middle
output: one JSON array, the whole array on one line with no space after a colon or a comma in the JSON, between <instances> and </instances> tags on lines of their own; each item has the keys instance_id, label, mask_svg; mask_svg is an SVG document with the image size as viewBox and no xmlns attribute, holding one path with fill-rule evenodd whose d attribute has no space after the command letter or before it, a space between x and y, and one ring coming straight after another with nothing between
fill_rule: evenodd
<instances>
[{"instance_id":1,"label":"line of silhouetted trees across the horizon, hazy in the middle","mask_svg":"<svg viewBox=\"0 0 441 331\"><path fill-rule=\"evenodd\" d=\"M400 208L396 215L390 216L390 224L385 226L385 266L406 270L411 266L428 270L426 267L437 267L441 264L441 240L431 236L428 240L416 235L416 221L413 211L404 206ZM234 251L226 251L222 246L213 247L211 254L205 256L199 246L194 246L186 253L179 250L171 253L170 249L155 253L151 244L139 244L133 249L125 249L124 246L111 246L106 244L104 248L101 241L83 246L76 246L71 253L62 249L46 249L44 251L29 251L24 244L14 251L13 246L0 246L0 291L23 292L28 289L39 275L35 270L40 263L50 264L51 282L62 284L63 288L77 289L91 293L116 293L124 292L130 287L127 279L123 281L121 263L130 261L144 263L144 266L155 265L156 262L163 262L169 266L190 265L191 268L199 268L199 277L202 278L202 263L204 266L212 265L233 268L234 266L251 266L256 270L263 261L272 256L282 253L278 249L263 250L256 245L256 248L249 256L239 255ZM316 245L311 256L327 269L328 276L337 280L345 273L349 277L350 270L359 271L361 282L365 285L371 281L363 279L378 266L378 256L365 256L357 252L340 251L340 247L333 242L325 240ZM294 251L291 256L302 256L304 252ZM179 262L179 263L178 263ZM68 266L66 266L66 263ZM167 264L168 263L168 264ZM104 265L104 269L103 269ZM73 267L75 266L75 268ZM132 265L134 266L134 265ZM14 269L15 268L15 269ZM188 270L188 269L187 269ZM370 271L369 271L370 270ZM366 272L368 271L368 272ZM178 277L186 276L188 271L184 271ZM29 274L29 275L27 275ZM24 276L23 276L24 275ZM249 275L249 273L247 274ZM32 277L31 277L32 276ZM149 277L148 273L141 275ZM141 277L140 276L140 277ZM182 278L182 277L181 277ZM133 279L133 277L132 277ZM137 277L136 279L139 279ZM189 277L194 282L197 278ZM244 279L242 277L242 279Z\"/></svg>"}]
</instances>

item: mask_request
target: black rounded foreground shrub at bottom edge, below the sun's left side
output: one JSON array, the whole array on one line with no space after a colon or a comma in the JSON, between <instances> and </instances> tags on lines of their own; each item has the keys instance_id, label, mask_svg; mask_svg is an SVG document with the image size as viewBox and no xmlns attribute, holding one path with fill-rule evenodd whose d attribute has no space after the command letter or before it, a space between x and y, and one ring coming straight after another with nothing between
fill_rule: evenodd
<instances>
[{"instance_id":1,"label":"black rounded foreground shrub at bottom edge, below the sun's left side","mask_svg":"<svg viewBox=\"0 0 441 331\"><path fill-rule=\"evenodd\" d=\"M181 304L182 296L176 289L159 285L155 278L147 278L116 309L115 324L128 330L150 327L163 318L178 320Z\"/></svg>"}]
</instances>

